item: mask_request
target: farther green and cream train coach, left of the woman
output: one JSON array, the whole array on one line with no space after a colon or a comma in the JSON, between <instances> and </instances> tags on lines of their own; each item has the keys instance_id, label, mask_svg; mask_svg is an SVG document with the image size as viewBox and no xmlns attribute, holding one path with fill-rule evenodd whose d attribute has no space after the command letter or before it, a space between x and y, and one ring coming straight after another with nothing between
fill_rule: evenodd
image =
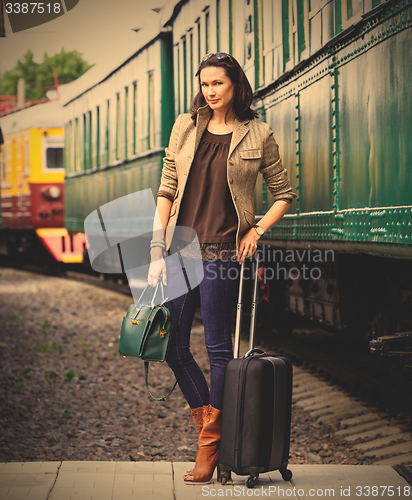
<instances>
[{"instance_id":1,"label":"farther green and cream train coach, left of the woman","mask_svg":"<svg viewBox=\"0 0 412 500\"><path fill-rule=\"evenodd\" d=\"M63 87L69 231L83 232L90 213L121 196L157 192L174 119L170 40L147 27L140 46Z\"/></svg>"}]
</instances>

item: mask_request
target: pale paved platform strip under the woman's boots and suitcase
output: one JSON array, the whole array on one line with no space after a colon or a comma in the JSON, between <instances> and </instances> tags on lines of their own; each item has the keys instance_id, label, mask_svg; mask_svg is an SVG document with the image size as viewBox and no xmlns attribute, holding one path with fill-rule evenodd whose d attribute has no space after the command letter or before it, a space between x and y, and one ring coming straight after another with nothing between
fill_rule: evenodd
<instances>
[{"instance_id":1,"label":"pale paved platform strip under the woman's boots and suitcase","mask_svg":"<svg viewBox=\"0 0 412 500\"><path fill-rule=\"evenodd\" d=\"M1 500L199 500L204 498L412 497L412 487L384 465L291 465L293 478L262 474L254 489L247 476L225 486L186 485L189 462L9 462L0 464Z\"/></svg>"}]
</instances>

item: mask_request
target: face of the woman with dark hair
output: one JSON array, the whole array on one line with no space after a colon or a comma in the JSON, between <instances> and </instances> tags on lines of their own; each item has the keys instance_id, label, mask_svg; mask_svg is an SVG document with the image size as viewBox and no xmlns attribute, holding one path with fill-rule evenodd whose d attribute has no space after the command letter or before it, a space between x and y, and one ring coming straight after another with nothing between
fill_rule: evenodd
<instances>
[{"instance_id":1,"label":"face of the woman with dark hair","mask_svg":"<svg viewBox=\"0 0 412 500\"><path fill-rule=\"evenodd\" d=\"M211 109L226 114L232 106L235 86L225 70L217 66L203 68L200 72L200 86Z\"/></svg>"}]
</instances>

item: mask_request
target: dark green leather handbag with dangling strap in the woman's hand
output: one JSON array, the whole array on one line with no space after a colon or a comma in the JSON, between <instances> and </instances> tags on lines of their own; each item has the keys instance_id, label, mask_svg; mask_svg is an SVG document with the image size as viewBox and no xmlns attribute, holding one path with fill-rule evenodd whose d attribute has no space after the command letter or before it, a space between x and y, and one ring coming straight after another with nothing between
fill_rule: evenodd
<instances>
[{"instance_id":1,"label":"dark green leather handbag with dangling strap in the woman's hand","mask_svg":"<svg viewBox=\"0 0 412 500\"><path fill-rule=\"evenodd\" d=\"M162 302L154 304L157 292L161 290ZM122 329L120 331L119 354L123 357L136 357L145 362L145 383L146 388L153 399L164 401L176 387L177 381L172 390L164 397L156 398L152 395L148 385L149 361L163 362L169 350L172 334L172 321L170 311L164 303L168 300L164 298L164 288L162 281L157 283L152 300L149 305L142 305L143 295L149 285L143 290L136 304L132 304L123 318Z\"/></svg>"}]
</instances>

